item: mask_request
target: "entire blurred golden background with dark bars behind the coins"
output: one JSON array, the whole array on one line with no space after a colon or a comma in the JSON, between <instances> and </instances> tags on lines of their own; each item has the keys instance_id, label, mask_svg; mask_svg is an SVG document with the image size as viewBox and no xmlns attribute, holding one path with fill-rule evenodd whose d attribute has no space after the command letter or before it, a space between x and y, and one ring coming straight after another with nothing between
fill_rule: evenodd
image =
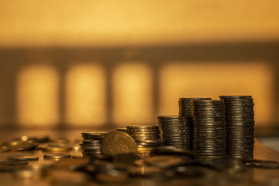
<instances>
[{"instance_id":1,"label":"entire blurred golden background with dark bars behind the coins","mask_svg":"<svg viewBox=\"0 0 279 186\"><path fill-rule=\"evenodd\" d=\"M0 1L0 127L110 128L252 95L279 130L279 1Z\"/></svg>"}]
</instances>

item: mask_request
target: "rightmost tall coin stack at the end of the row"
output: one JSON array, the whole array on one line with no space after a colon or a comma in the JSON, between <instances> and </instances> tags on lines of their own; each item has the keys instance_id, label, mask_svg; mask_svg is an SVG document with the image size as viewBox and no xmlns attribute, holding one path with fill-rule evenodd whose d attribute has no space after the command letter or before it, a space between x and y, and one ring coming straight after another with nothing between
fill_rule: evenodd
<instances>
[{"instance_id":1,"label":"rightmost tall coin stack at the end of the row","mask_svg":"<svg viewBox=\"0 0 279 186\"><path fill-rule=\"evenodd\" d=\"M250 95L220 95L225 103L227 152L229 156L252 160L254 149L254 110Z\"/></svg>"}]
</instances>

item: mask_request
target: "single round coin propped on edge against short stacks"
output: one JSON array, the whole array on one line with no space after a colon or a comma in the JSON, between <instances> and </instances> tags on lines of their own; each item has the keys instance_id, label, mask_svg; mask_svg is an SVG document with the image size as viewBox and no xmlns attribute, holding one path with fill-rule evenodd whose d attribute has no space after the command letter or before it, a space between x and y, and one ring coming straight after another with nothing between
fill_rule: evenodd
<instances>
[{"instance_id":1,"label":"single round coin propped on edge against short stacks","mask_svg":"<svg viewBox=\"0 0 279 186\"><path fill-rule=\"evenodd\" d=\"M102 141L101 148L105 155L136 153L137 143L130 135L116 131L106 135Z\"/></svg>"}]
</instances>

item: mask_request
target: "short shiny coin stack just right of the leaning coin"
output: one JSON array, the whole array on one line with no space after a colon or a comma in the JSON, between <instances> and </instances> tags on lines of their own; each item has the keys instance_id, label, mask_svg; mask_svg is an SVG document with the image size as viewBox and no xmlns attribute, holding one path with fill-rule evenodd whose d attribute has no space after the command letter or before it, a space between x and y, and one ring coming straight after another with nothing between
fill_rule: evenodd
<instances>
[{"instance_id":1,"label":"short shiny coin stack just right of the leaning coin","mask_svg":"<svg viewBox=\"0 0 279 186\"><path fill-rule=\"evenodd\" d=\"M129 125L127 132L135 139L140 148L150 148L161 144L157 125Z\"/></svg>"}]
</instances>

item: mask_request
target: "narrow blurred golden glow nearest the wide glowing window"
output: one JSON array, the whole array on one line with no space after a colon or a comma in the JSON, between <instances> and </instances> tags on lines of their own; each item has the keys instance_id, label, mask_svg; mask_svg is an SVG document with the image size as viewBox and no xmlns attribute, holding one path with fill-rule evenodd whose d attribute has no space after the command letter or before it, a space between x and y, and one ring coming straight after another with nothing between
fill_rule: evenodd
<instances>
[{"instance_id":1,"label":"narrow blurred golden glow nearest the wide glowing window","mask_svg":"<svg viewBox=\"0 0 279 186\"><path fill-rule=\"evenodd\" d=\"M113 73L113 121L119 126L149 123L153 117L152 75L141 63L123 63Z\"/></svg>"}]
</instances>

